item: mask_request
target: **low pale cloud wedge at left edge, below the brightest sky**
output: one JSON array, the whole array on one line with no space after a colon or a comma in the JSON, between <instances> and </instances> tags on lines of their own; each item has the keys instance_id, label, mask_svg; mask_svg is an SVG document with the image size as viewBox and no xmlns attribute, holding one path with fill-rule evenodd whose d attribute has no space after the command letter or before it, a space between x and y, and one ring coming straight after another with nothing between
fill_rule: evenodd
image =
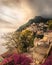
<instances>
[{"instance_id":1,"label":"low pale cloud wedge at left edge, below the brightest sky","mask_svg":"<svg viewBox=\"0 0 52 65\"><path fill-rule=\"evenodd\" d=\"M7 22L5 20L0 19L0 30L2 28L10 28L10 29L15 29L17 26L13 25L11 22Z\"/></svg>"}]
</instances>

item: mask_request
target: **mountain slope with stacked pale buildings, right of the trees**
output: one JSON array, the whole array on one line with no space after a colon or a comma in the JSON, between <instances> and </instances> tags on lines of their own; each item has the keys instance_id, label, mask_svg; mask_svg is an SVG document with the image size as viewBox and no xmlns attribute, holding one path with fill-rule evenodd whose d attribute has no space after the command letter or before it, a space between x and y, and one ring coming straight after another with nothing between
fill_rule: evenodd
<instances>
[{"instance_id":1,"label":"mountain slope with stacked pale buildings, right of the trees","mask_svg":"<svg viewBox=\"0 0 52 65\"><path fill-rule=\"evenodd\" d=\"M33 62L35 59L34 63L39 65L46 59L52 48L52 19L36 16L19 27L17 32L24 33L26 30L33 32L34 36L34 47L29 48L29 55L32 54Z\"/></svg>"}]
</instances>

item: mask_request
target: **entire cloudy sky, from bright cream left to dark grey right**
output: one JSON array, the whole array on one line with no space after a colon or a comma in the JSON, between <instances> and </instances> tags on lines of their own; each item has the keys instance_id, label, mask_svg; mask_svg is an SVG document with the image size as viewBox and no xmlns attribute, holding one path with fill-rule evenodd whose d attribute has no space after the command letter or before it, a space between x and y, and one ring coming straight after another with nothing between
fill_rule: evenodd
<instances>
[{"instance_id":1,"label":"entire cloudy sky, from bright cream left to dark grey right","mask_svg":"<svg viewBox=\"0 0 52 65\"><path fill-rule=\"evenodd\" d=\"M52 0L0 0L0 37L35 16L52 17Z\"/></svg>"}]
</instances>

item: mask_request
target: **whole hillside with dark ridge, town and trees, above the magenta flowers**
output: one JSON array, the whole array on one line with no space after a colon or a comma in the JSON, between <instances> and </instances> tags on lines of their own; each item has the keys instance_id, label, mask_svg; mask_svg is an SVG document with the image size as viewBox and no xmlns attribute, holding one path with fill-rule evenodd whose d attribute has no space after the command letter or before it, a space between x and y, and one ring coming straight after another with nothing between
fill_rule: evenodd
<instances>
[{"instance_id":1,"label":"whole hillside with dark ridge, town and trees, above the magenta flowers","mask_svg":"<svg viewBox=\"0 0 52 65\"><path fill-rule=\"evenodd\" d=\"M52 19L36 16L4 39L10 53L25 54L32 58L31 65L41 65L52 52Z\"/></svg>"}]
</instances>

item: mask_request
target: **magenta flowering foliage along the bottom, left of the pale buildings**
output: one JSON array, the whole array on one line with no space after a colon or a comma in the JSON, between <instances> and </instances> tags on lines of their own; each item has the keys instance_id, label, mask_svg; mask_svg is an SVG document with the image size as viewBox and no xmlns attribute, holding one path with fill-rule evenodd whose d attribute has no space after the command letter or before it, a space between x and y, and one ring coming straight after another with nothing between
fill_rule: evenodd
<instances>
[{"instance_id":1,"label":"magenta flowering foliage along the bottom, left of the pale buildings","mask_svg":"<svg viewBox=\"0 0 52 65\"><path fill-rule=\"evenodd\" d=\"M5 58L1 65L30 65L32 58L24 54L13 54L12 57Z\"/></svg>"}]
</instances>

